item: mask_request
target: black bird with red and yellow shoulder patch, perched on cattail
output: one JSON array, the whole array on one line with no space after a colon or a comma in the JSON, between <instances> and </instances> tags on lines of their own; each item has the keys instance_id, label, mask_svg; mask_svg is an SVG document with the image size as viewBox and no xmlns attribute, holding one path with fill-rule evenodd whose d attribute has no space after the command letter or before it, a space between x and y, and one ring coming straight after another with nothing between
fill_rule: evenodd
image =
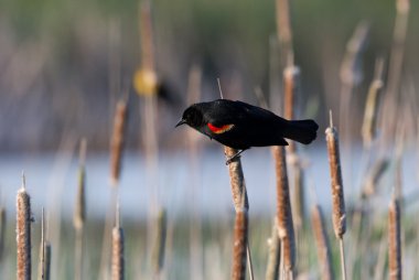
<instances>
[{"instance_id":1,"label":"black bird with red and yellow shoulder patch, perched on cattail","mask_svg":"<svg viewBox=\"0 0 419 280\"><path fill-rule=\"evenodd\" d=\"M227 99L191 105L176 127L184 123L238 150L226 164L251 147L288 146L284 138L309 144L319 129L311 119L287 120L267 109Z\"/></svg>"}]
</instances>

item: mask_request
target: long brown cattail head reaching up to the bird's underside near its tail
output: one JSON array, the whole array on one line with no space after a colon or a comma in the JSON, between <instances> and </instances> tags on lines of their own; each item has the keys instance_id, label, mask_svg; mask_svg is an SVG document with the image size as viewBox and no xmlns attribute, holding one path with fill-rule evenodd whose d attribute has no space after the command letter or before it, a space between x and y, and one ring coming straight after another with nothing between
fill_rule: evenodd
<instances>
[{"instance_id":1,"label":"long brown cattail head reaching up to the bird's underside near its tail","mask_svg":"<svg viewBox=\"0 0 419 280\"><path fill-rule=\"evenodd\" d=\"M296 239L288 185L286 150L283 147L273 147L272 152L277 174L278 235L281 239L281 261L287 277L286 279L288 279L288 277L292 277L296 266Z\"/></svg>"}]
</instances>

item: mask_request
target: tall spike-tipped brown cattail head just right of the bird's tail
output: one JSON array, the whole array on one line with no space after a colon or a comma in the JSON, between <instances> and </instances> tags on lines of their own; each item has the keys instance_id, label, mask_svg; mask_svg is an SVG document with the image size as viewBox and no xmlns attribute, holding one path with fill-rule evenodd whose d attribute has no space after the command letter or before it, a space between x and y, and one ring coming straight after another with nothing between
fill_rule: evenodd
<instances>
[{"instance_id":1,"label":"tall spike-tipped brown cattail head just right of the bird's tail","mask_svg":"<svg viewBox=\"0 0 419 280\"><path fill-rule=\"evenodd\" d=\"M333 229L336 237L342 238L346 231L345 198L343 194L339 136L336 128L333 127L332 112L331 126L326 129L325 133L332 179Z\"/></svg>"}]
</instances>

